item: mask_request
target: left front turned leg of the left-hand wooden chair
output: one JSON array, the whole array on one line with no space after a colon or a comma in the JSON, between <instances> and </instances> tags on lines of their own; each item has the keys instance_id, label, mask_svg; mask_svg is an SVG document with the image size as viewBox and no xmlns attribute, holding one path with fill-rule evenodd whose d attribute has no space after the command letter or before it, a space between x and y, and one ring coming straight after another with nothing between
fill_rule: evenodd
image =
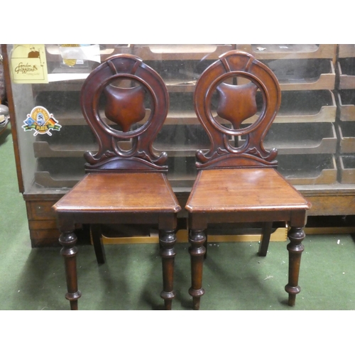
<instances>
[{"instance_id":1,"label":"left front turned leg of the left-hand wooden chair","mask_svg":"<svg viewBox=\"0 0 355 355\"><path fill-rule=\"evenodd\" d=\"M70 309L77 310L77 300L81 293L77 289L77 236L74 231L64 231L60 235L59 242L62 245L60 250L65 262L65 277L67 280L67 293L65 298L70 301Z\"/></svg>"}]
</instances>

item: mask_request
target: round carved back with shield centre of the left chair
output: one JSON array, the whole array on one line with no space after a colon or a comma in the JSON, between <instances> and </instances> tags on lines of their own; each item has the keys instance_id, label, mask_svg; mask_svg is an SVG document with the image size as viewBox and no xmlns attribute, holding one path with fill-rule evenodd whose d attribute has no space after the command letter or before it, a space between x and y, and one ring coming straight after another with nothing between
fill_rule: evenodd
<instances>
[{"instance_id":1,"label":"round carved back with shield centre of the left chair","mask_svg":"<svg viewBox=\"0 0 355 355\"><path fill-rule=\"evenodd\" d=\"M141 58L114 55L85 80L82 114L97 138L97 153L86 152L86 172L167 172L165 152L153 141L168 114L169 96L160 75Z\"/></svg>"}]
</instances>

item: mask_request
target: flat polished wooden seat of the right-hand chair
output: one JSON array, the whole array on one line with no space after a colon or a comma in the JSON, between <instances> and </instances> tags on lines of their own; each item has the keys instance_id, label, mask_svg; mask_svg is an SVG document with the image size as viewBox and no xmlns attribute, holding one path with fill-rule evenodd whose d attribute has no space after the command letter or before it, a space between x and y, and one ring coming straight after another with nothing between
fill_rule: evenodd
<instances>
[{"instance_id":1,"label":"flat polished wooden seat of the right-hand chair","mask_svg":"<svg viewBox=\"0 0 355 355\"><path fill-rule=\"evenodd\" d=\"M302 195L273 168L200 170L186 205L190 213L309 208Z\"/></svg>"}]
</instances>

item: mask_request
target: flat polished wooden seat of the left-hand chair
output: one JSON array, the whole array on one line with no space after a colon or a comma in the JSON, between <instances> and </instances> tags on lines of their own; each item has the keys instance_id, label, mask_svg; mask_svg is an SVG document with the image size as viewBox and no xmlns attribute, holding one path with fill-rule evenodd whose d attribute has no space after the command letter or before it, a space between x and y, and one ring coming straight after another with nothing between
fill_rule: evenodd
<instances>
[{"instance_id":1,"label":"flat polished wooden seat of the left-hand chair","mask_svg":"<svg viewBox=\"0 0 355 355\"><path fill-rule=\"evenodd\" d=\"M178 212L164 173L89 173L55 206L57 212Z\"/></svg>"}]
</instances>

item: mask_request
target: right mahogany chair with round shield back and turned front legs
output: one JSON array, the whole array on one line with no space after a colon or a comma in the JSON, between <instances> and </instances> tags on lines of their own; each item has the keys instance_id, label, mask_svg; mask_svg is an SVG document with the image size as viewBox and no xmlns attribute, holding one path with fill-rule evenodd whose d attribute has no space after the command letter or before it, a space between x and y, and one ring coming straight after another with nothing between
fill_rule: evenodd
<instances>
[{"instance_id":1,"label":"right mahogany chair with round shield back and turned front legs","mask_svg":"<svg viewBox=\"0 0 355 355\"><path fill-rule=\"evenodd\" d=\"M300 293L303 227L311 206L276 170L277 150L263 147L280 99L273 72L239 50L221 55L197 81L195 111L211 145L207 152L196 152L197 178L185 207L190 229L189 293L195 310L200 309L200 297L204 295L202 266L208 224L263 222L258 254L266 256L273 222L288 222L289 275L285 290L290 306L295 305ZM236 143L231 143L231 137Z\"/></svg>"}]
</instances>

